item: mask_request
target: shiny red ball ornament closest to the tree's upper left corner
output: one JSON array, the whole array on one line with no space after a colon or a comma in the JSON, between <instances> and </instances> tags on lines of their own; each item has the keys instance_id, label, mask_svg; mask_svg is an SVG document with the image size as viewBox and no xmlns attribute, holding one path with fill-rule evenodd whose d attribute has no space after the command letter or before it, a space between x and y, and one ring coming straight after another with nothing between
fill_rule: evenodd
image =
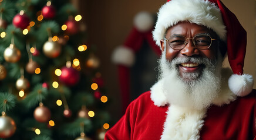
<instances>
[{"instance_id":1,"label":"shiny red ball ornament closest to the tree's upper left corner","mask_svg":"<svg viewBox=\"0 0 256 140\"><path fill-rule=\"evenodd\" d=\"M19 15L18 13L14 16L14 19L12 19L12 24L14 24L15 27L24 30L29 26L29 17L25 13L23 15Z\"/></svg>"}]
</instances>

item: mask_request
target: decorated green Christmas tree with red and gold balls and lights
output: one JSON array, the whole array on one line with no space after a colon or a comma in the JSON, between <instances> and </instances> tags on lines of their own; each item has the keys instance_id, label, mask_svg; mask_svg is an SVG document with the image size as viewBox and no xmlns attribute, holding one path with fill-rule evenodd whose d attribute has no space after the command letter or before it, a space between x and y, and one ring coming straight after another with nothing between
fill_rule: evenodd
<instances>
[{"instance_id":1,"label":"decorated green Christmas tree with red and gold balls and lights","mask_svg":"<svg viewBox=\"0 0 256 140\"><path fill-rule=\"evenodd\" d=\"M96 47L66 0L0 0L0 138L103 139Z\"/></svg>"}]
</instances>

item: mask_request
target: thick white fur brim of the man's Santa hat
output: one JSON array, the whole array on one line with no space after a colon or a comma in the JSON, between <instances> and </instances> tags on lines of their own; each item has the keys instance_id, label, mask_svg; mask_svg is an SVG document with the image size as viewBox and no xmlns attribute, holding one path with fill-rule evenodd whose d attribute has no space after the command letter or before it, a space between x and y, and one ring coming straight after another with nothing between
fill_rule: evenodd
<instances>
[{"instance_id":1,"label":"thick white fur brim of the man's Santa hat","mask_svg":"<svg viewBox=\"0 0 256 140\"><path fill-rule=\"evenodd\" d=\"M220 9L204 0L172 0L161 6L153 31L153 38L160 46L166 30L178 22L188 21L203 25L217 33L221 40L226 40L226 29Z\"/></svg>"}]
</instances>

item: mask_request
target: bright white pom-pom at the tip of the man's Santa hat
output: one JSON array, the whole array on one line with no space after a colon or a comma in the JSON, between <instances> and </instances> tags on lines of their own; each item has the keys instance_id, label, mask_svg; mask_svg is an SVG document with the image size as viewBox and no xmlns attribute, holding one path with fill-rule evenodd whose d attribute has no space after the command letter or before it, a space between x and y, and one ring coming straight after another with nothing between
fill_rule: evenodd
<instances>
[{"instance_id":1,"label":"bright white pom-pom at the tip of the man's Santa hat","mask_svg":"<svg viewBox=\"0 0 256 140\"><path fill-rule=\"evenodd\" d=\"M228 79L230 90L237 96L247 96L250 94L253 88L253 83L252 76L248 74L233 74L230 79Z\"/></svg>"}]
</instances>

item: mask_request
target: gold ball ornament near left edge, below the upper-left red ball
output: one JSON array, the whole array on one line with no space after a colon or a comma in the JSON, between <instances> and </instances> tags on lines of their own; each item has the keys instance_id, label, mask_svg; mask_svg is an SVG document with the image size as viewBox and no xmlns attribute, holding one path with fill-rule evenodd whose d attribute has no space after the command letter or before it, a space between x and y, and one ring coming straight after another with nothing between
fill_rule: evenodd
<instances>
[{"instance_id":1,"label":"gold ball ornament near left edge, below the upper-left red ball","mask_svg":"<svg viewBox=\"0 0 256 140\"><path fill-rule=\"evenodd\" d=\"M4 51L4 58L7 62L18 62L21 59L21 51L13 44L10 44Z\"/></svg>"}]
</instances>

